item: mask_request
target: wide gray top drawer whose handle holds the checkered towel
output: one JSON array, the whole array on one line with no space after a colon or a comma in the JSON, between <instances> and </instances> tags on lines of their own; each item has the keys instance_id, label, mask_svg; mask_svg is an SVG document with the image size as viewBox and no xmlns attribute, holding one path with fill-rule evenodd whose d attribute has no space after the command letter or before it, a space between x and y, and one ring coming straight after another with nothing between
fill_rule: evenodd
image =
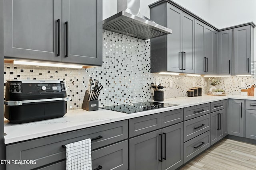
<instances>
[{"instance_id":1,"label":"wide gray top drawer whose handle holds the checkered towel","mask_svg":"<svg viewBox=\"0 0 256 170\"><path fill-rule=\"evenodd\" d=\"M6 146L7 160L36 160L36 164L10 164L6 170L28 170L66 158L66 149L62 145L88 138L102 136L92 141L92 149L103 147L128 138L128 121L119 121L87 129L71 131L41 139Z\"/></svg>"}]
</instances>

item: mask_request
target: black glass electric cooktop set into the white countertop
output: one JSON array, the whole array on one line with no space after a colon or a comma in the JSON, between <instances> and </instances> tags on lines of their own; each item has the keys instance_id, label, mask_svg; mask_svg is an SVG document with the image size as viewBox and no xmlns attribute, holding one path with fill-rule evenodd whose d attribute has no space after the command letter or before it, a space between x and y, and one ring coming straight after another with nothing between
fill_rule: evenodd
<instances>
[{"instance_id":1,"label":"black glass electric cooktop set into the white countertop","mask_svg":"<svg viewBox=\"0 0 256 170\"><path fill-rule=\"evenodd\" d=\"M177 105L178 104L168 104L168 103L160 103L160 102L139 102L139 103L121 104L121 105L115 105L115 106L104 106L100 108L130 114L130 113L136 113L140 111L159 109L162 107L170 107L170 106L177 106Z\"/></svg>"}]
</instances>

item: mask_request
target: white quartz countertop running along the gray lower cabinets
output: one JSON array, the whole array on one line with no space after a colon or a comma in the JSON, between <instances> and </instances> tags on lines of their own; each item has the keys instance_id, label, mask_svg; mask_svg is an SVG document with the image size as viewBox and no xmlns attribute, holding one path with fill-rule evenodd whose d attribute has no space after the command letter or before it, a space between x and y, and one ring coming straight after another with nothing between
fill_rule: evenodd
<instances>
[{"instance_id":1,"label":"white quartz countertop running along the gray lower cabinets","mask_svg":"<svg viewBox=\"0 0 256 170\"><path fill-rule=\"evenodd\" d=\"M86 111L83 109L77 109L68 111L64 117L56 119L48 119L45 121L36 121L23 124L12 124L7 119L4 119L4 136L5 144L16 143L20 141L35 139L38 137L44 137L48 135L54 135L57 133L64 133L67 131L73 131L77 129L83 129L86 127L92 127L96 125L102 125L105 123L112 123L115 121L121 121L131 119L134 117L140 117L144 115L150 115L154 113L160 113L164 111L180 109L189 106L195 106L198 104L205 104L209 102L215 102L224 99L242 99L242 100L256 100L256 96L198 96L198 97L181 97L171 98L164 100L164 103L179 104L178 106L165 107L160 109L141 111L137 113L121 113L117 111L110 111L106 109L98 109L97 111Z\"/></svg>"}]
</instances>

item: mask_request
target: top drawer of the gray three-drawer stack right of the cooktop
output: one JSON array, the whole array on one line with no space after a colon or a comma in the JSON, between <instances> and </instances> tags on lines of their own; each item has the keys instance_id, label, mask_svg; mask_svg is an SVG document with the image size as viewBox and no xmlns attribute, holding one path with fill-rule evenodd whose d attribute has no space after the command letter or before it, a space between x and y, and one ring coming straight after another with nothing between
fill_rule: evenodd
<instances>
[{"instance_id":1,"label":"top drawer of the gray three-drawer stack right of the cooktop","mask_svg":"<svg viewBox=\"0 0 256 170\"><path fill-rule=\"evenodd\" d=\"M184 121L210 113L210 103L184 108Z\"/></svg>"}]
</instances>

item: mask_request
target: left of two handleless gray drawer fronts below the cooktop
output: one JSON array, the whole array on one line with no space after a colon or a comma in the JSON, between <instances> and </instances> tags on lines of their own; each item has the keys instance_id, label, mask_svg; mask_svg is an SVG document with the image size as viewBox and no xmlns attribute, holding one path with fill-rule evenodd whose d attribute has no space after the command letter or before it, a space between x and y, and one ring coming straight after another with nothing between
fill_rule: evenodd
<instances>
[{"instance_id":1,"label":"left of two handleless gray drawer fronts below the cooktop","mask_svg":"<svg viewBox=\"0 0 256 170\"><path fill-rule=\"evenodd\" d=\"M161 113L129 119L129 137L161 128Z\"/></svg>"}]
</instances>

